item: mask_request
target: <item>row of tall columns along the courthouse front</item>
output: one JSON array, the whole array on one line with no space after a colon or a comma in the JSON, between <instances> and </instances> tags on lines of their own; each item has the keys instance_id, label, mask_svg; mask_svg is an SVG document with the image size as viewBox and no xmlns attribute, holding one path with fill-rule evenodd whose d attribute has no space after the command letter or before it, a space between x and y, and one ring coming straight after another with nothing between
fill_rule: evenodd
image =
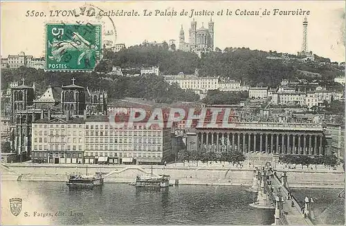
<instances>
[{"instance_id":1,"label":"row of tall columns along the courthouse front","mask_svg":"<svg viewBox=\"0 0 346 226\"><path fill-rule=\"evenodd\" d=\"M199 151L324 155L321 133L199 132Z\"/></svg>"}]
</instances>

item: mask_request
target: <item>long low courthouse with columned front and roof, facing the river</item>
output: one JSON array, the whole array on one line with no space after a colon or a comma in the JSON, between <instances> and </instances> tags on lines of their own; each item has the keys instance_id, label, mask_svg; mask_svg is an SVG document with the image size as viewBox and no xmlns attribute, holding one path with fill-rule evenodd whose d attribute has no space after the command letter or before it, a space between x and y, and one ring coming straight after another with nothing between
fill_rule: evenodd
<instances>
[{"instance_id":1,"label":"long low courthouse with columned front and roof, facing the river","mask_svg":"<svg viewBox=\"0 0 346 226\"><path fill-rule=\"evenodd\" d=\"M234 122L228 128L197 127L199 151L329 156L331 137L321 124Z\"/></svg>"}]
</instances>

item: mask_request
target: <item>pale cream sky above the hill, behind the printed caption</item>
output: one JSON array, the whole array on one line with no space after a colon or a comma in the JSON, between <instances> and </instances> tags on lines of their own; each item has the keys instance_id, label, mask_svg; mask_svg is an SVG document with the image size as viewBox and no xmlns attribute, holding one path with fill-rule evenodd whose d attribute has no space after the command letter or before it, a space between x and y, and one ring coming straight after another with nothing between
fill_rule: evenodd
<instances>
[{"instance_id":1,"label":"pale cream sky above the hill, behind the printed caption","mask_svg":"<svg viewBox=\"0 0 346 226\"><path fill-rule=\"evenodd\" d=\"M246 47L253 50L276 50L296 54L302 48L302 15L273 15L273 10L309 10L307 15L308 50L316 55L328 57L331 61L345 62L345 1L127 1L89 2L104 11L136 10L139 16L113 16L116 27L116 43L133 46L148 41L179 40L181 26L188 41L188 30L192 18L190 10L208 10L215 13L215 47ZM50 10L76 10L86 6L84 2L1 2L1 56L16 55L24 51L26 55L44 56L46 23L74 23L88 19L91 23L104 23L104 28L112 28L108 17L51 17ZM235 15L235 10L258 10L260 16ZM45 17L30 17L30 12L43 12ZM144 16L143 10L152 11L152 16ZM176 16L154 16L155 10L174 11ZM188 16L180 16L182 10ZM223 15L217 12L223 10ZM232 15L226 15L226 11ZM271 15L263 16L264 10ZM98 11L97 11L98 12ZM29 14L29 17L26 15ZM210 16L195 16L197 28L208 27Z\"/></svg>"}]
</instances>

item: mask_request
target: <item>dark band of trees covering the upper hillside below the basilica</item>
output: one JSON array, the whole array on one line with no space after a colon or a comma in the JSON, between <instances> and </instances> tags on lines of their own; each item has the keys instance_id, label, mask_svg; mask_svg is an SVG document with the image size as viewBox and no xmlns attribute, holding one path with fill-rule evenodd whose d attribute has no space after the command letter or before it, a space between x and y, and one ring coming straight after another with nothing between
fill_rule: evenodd
<instances>
[{"instance_id":1,"label":"dark band of trees covering the upper hillside below the basilica","mask_svg":"<svg viewBox=\"0 0 346 226\"><path fill-rule=\"evenodd\" d=\"M331 64L330 59L318 57L323 61L299 62L298 60L273 60L266 57L281 53L250 50L249 48L225 48L197 57L194 53L181 50L168 50L163 44L130 46L118 53L107 52L105 60L98 70L107 72L112 66L122 68L140 66L160 66L163 75L176 75L194 73L199 68L200 76L221 76L239 79L251 86L277 86L282 79L313 79L332 80L343 71ZM291 57L295 57L291 55ZM326 64L324 64L326 63ZM311 73L302 73L302 71Z\"/></svg>"}]
</instances>

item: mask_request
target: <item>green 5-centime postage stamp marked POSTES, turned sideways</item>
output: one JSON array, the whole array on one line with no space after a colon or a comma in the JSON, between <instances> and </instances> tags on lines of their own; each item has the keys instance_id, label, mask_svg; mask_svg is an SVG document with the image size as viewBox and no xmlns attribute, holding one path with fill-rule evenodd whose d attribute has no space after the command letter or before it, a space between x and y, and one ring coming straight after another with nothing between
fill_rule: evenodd
<instances>
[{"instance_id":1,"label":"green 5-centime postage stamp marked POSTES, turned sideways","mask_svg":"<svg viewBox=\"0 0 346 226\"><path fill-rule=\"evenodd\" d=\"M46 24L46 70L93 70L101 57L101 25Z\"/></svg>"}]
</instances>

